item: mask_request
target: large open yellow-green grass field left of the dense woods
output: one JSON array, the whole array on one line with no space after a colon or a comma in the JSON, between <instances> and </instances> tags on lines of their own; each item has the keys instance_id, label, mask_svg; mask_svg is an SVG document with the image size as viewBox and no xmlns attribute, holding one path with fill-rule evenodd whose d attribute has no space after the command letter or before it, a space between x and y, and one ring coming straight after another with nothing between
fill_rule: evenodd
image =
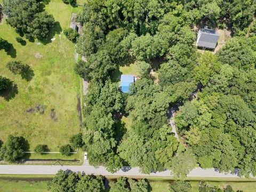
<instances>
[{"instance_id":1,"label":"large open yellow-green grass field left of the dense woods","mask_svg":"<svg viewBox=\"0 0 256 192\"><path fill-rule=\"evenodd\" d=\"M0 0L1 1L1 0ZM73 7L62 0L51 0L45 10L53 14L57 21L52 36L44 43L30 43L22 46L15 37L14 28L0 24L0 37L13 45L8 54L0 51L0 75L10 78L17 84L18 93L7 101L0 97L0 139L7 135L25 137L33 151L37 144L44 144L51 151L68 143L71 135L79 131L77 94L79 77L74 71L75 45L67 40L61 30L69 26ZM53 41L51 42L51 38ZM8 61L20 60L34 71L31 81L13 75L5 66ZM42 105L44 114L27 113L26 110ZM35 108L36 109L36 108ZM55 116L52 118L51 110Z\"/></svg>"}]
</instances>

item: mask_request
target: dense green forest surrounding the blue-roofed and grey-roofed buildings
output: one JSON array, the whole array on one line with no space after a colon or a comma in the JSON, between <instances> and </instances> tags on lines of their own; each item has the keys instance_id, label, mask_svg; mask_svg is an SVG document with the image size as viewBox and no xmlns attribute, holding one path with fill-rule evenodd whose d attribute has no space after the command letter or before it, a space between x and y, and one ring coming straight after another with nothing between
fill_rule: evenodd
<instances>
[{"instance_id":1,"label":"dense green forest surrounding the blue-roofed and grey-roofed buildings","mask_svg":"<svg viewBox=\"0 0 256 192\"><path fill-rule=\"evenodd\" d=\"M90 164L111 172L124 165L143 173L171 169L182 177L198 163L256 175L254 14L253 0L88 1L77 17L78 52L87 62L75 70L90 82L84 107ZM196 30L205 25L231 31L217 54L195 47ZM113 73L135 61L141 78L121 93ZM167 125L167 110L176 105L180 142ZM119 129L128 115L131 129Z\"/></svg>"}]
</instances>

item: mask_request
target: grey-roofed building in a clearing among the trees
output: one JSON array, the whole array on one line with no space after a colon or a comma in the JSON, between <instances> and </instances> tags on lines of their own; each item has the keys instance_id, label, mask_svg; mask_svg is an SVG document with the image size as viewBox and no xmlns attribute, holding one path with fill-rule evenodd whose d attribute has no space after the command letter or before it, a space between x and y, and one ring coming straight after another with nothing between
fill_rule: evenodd
<instances>
[{"instance_id":1,"label":"grey-roofed building in a clearing among the trees","mask_svg":"<svg viewBox=\"0 0 256 192\"><path fill-rule=\"evenodd\" d=\"M198 31L196 46L203 49L215 49L219 38L220 35L217 31L206 26Z\"/></svg>"}]
</instances>

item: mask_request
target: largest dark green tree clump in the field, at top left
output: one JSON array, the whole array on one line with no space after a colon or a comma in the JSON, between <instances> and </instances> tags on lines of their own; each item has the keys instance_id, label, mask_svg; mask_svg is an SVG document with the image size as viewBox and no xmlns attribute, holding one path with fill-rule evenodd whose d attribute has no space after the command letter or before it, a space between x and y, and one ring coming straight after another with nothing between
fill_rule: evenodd
<instances>
[{"instance_id":1,"label":"largest dark green tree clump in the field, at top left","mask_svg":"<svg viewBox=\"0 0 256 192\"><path fill-rule=\"evenodd\" d=\"M4 0L3 7L3 12L8 15L7 23L30 41L46 38L55 22L36 0Z\"/></svg>"}]
</instances>

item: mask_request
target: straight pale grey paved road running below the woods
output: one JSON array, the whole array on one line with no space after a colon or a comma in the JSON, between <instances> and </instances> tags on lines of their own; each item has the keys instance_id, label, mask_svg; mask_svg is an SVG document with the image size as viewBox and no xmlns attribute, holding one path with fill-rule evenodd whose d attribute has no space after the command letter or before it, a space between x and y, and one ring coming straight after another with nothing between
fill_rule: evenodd
<instances>
[{"instance_id":1,"label":"straight pale grey paved road running below the woods","mask_svg":"<svg viewBox=\"0 0 256 192\"><path fill-rule=\"evenodd\" d=\"M59 170L71 170L95 175L122 175L122 176L171 176L170 171L143 174L139 172L139 167L123 167L116 173L110 173L105 167L99 166L50 166L50 165L0 165L0 174L56 174ZM213 178L239 178L237 174L219 173L214 169L195 168L187 177L213 177Z\"/></svg>"}]
</instances>

